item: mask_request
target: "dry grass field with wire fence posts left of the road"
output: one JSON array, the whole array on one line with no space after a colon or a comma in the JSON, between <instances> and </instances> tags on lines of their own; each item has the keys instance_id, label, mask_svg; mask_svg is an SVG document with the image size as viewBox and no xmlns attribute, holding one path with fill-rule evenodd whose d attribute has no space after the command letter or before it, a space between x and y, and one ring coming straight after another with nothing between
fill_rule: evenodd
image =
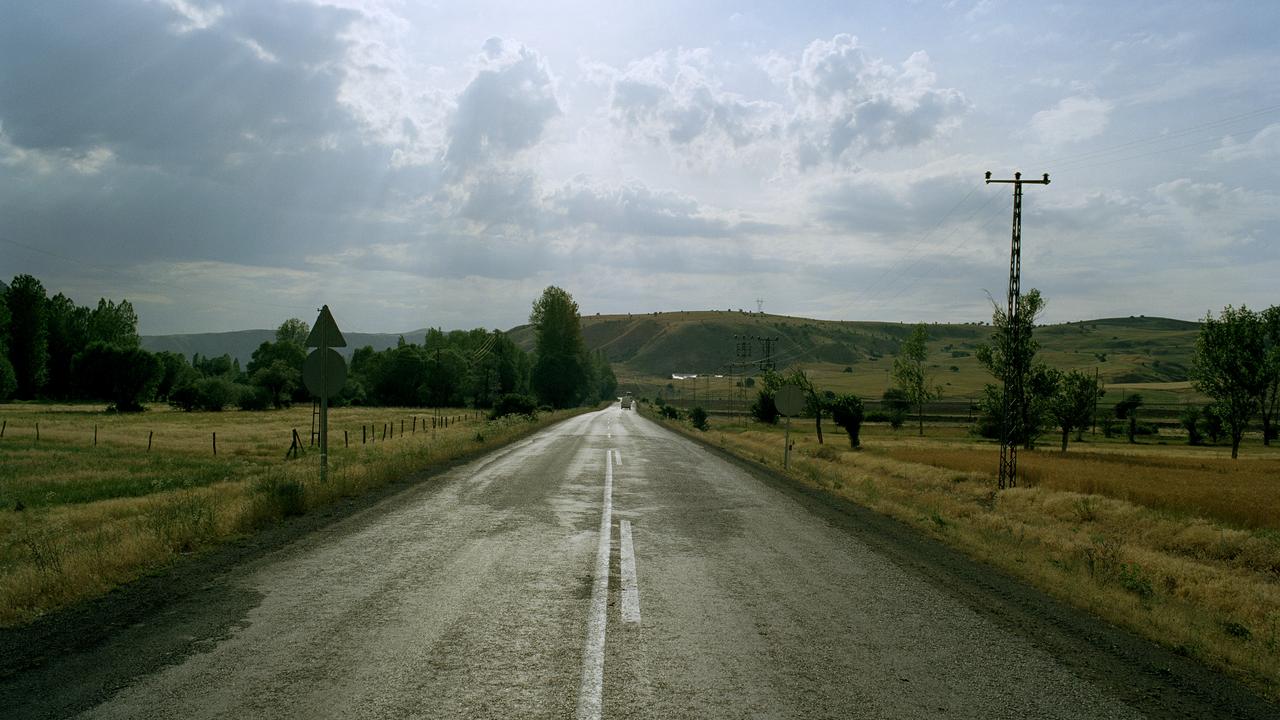
<instances>
[{"instance_id":1,"label":"dry grass field with wire fence posts left of the road","mask_svg":"<svg viewBox=\"0 0 1280 720\"><path fill-rule=\"evenodd\" d=\"M335 409L321 483L310 407L114 415L0 405L0 626L570 414L490 423L457 409ZM294 429L303 448L287 460Z\"/></svg>"}]
</instances>

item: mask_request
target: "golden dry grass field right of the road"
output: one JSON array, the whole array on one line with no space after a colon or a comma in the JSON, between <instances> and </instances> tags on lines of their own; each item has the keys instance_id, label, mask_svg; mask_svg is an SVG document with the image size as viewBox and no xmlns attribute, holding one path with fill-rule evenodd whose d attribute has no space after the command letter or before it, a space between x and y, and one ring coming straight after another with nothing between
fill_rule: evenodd
<instances>
[{"instance_id":1,"label":"golden dry grass field right of the road","mask_svg":"<svg viewBox=\"0 0 1280 720\"><path fill-rule=\"evenodd\" d=\"M650 414L653 415L653 414ZM723 419L689 434L782 470L782 428ZM1089 442L1020 452L959 428L865 427L863 450L794 423L787 473L893 516L1069 603L1280 698L1280 448Z\"/></svg>"}]
</instances>

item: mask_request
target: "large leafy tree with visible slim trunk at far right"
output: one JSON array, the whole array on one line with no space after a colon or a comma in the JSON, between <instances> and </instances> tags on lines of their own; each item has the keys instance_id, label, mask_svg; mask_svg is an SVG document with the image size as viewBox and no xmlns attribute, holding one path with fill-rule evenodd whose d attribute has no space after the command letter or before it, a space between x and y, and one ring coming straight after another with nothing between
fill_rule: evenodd
<instances>
[{"instance_id":1,"label":"large leafy tree with visible slim trunk at far right","mask_svg":"<svg viewBox=\"0 0 1280 720\"><path fill-rule=\"evenodd\" d=\"M1228 305L1217 319L1204 316L1192 354L1192 383L1213 398L1213 413L1231 437L1231 457L1239 457L1244 428L1266 386L1263 324L1245 306Z\"/></svg>"}]
</instances>

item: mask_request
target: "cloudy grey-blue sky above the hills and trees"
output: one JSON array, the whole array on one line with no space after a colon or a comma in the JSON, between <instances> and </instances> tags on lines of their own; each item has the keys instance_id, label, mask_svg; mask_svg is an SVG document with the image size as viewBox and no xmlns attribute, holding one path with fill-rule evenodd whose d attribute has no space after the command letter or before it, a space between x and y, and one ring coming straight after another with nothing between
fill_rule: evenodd
<instances>
[{"instance_id":1,"label":"cloudy grey-blue sky above the hills and trees","mask_svg":"<svg viewBox=\"0 0 1280 720\"><path fill-rule=\"evenodd\" d=\"M1280 302L1280 4L0 0L0 277L142 332Z\"/></svg>"}]
</instances>

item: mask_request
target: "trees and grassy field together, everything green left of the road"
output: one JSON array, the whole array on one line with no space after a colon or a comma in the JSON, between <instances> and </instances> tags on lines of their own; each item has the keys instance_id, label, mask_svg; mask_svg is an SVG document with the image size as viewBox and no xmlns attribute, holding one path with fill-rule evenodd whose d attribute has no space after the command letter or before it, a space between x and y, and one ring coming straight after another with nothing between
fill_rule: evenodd
<instances>
[{"instance_id":1,"label":"trees and grassy field together, everything green left of the road","mask_svg":"<svg viewBox=\"0 0 1280 720\"><path fill-rule=\"evenodd\" d=\"M320 482L306 322L284 320L243 368L148 352L137 323L124 300L86 307L31 275L0 283L0 402L23 401L0 405L0 626L495 448L617 386L557 287L534 302L531 352L484 329L355 348Z\"/></svg>"}]
</instances>

